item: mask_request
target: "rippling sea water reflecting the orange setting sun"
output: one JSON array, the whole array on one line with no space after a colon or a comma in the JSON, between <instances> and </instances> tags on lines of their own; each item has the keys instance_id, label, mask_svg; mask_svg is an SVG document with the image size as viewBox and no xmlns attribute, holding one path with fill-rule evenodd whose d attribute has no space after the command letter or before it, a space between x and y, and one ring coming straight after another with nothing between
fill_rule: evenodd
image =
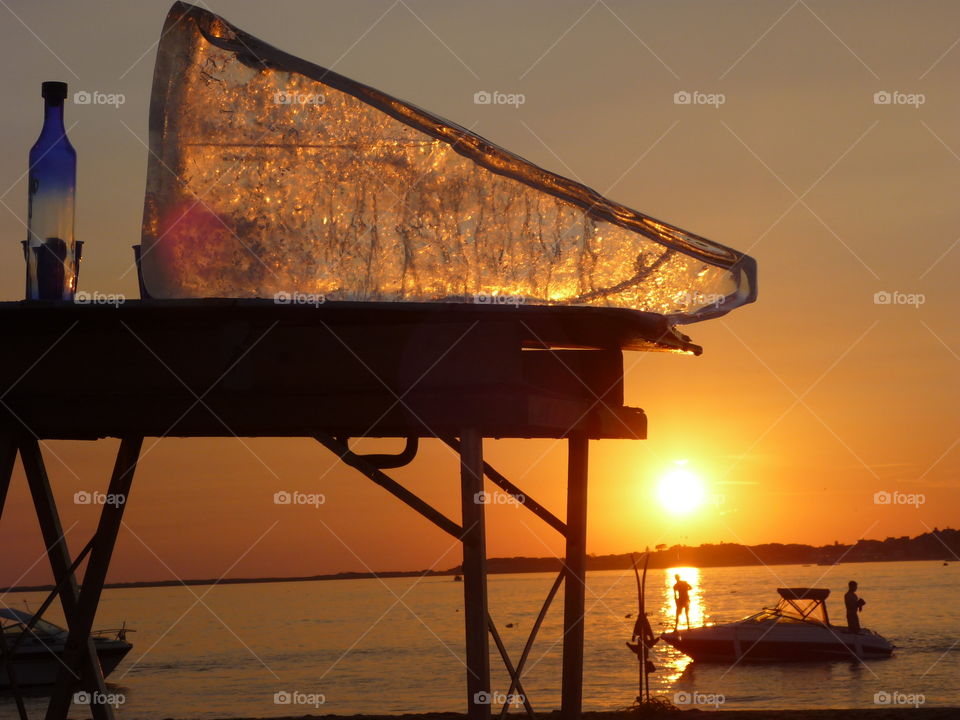
<instances>
[{"instance_id":1,"label":"rippling sea water reflecting the orange setting sun","mask_svg":"<svg viewBox=\"0 0 960 720\"><path fill-rule=\"evenodd\" d=\"M867 600L864 626L897 650L867 665L729 667L691 663L660 643L656 694L685 692L707 707L722 696L725 708L769 709L874 707L876 693L900 692L922 695L926 705L960 706L960 563L651 570L648 612L657 632L673 624L674 572L694 586L697 625L772 606L777 586L808 584L833 591L833 617L842 622L841 595L856 579ZM514 661L553 579L490 578L491 613ZM108 590L97 625L126 620L137 630L108 683L125 699L123 718L462 711L462 593L460 583L439 578ZM24 600L36 607L40 596L4 598L18 607ZM637 695L637 662L624 646L637 610L632 572L590 573L587 607L585 707L627 706ZM537 710L559 706L562 610L561 591L524 674ZM48 618L62 624L53 611ZM506 693L507 674L493 653L493 687ZM276 693L299 704L276 704ZM33 713L44 703L29 701ZM9 698L0 699L0 717L15 717Z\"/></svg>"}]
</instances>

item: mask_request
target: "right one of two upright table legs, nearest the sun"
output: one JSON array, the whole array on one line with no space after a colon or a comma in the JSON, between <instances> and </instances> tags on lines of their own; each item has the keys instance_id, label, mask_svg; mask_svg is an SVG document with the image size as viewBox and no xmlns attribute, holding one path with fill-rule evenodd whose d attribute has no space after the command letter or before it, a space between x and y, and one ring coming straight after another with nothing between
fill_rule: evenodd
<instances>
[{"instance_id":1,"label":"right one of two upright table legs, nearest the sun","mask_svg":"<svg viewBox=\"0 0 960 720\"><path fill-rule=\"evenodd\" d=\"M587 449L580 433L567 440L567 577L563 594L564 720L579 720L583 711L583 615L587 571Z\"/></svg>"}]
</instances>

